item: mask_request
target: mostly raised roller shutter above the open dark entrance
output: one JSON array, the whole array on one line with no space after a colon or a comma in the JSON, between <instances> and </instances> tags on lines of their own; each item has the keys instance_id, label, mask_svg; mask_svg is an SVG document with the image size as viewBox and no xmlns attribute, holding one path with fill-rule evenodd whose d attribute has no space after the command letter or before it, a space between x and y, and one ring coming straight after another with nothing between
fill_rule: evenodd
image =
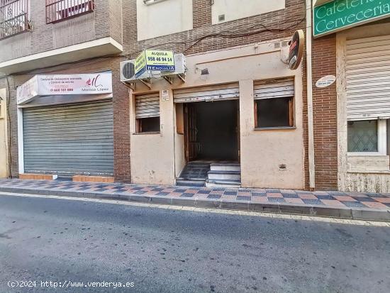
<instances>
[{"instance_id":1,"label":"mostly raised roller shutter above the open dark entrance","mask_svg":"<svg viewBox=\"0 0 390 293\"><path fill-rule=\"evenodd\" d=\"M192 101L224 101L240 98L238 84L223 84L196 89L177 89L174 91L175 103Z\"/></svg>"}]
</instances>

